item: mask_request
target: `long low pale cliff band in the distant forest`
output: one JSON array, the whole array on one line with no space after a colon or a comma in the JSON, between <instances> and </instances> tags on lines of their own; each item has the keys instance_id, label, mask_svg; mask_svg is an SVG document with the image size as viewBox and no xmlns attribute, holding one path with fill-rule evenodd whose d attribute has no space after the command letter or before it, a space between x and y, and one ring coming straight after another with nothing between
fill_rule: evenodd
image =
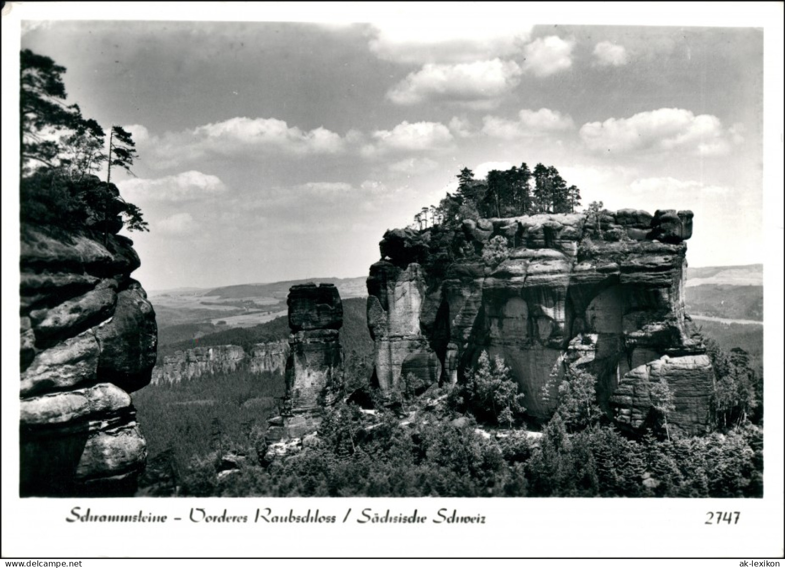
<instances>
[{"instance_id":1,"label":"long low pale cliff band in the distant forest","mask_svg":"<svg viewBox=\"0 0 785 568\"><path fill-rule=\"evenodd\" d=\"M250 353L239 345L214 345L175 351L166 355L162 365L152 370L152 384L179 383L203 375L231 373L246 366L250 373L281 373L289 356L288 341L270 341L254 345Z\"/></svg>"}]
</instances>

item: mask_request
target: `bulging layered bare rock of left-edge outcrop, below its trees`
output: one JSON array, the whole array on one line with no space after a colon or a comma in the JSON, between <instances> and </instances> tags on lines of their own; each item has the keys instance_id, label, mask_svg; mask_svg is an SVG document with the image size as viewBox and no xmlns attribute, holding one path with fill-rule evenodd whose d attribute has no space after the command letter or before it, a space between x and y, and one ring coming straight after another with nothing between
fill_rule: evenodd
<instances>
[{"instance_id":1,"label":"bulging layered bare rock of left-edge outcrop, below its trees","mask_svg":"<svg viewBox=\"0 0 785 568\"><path fill-rule=\"evenodd\" d=\"M132 242L30 225L20 242L20 494L133 494L147 450L127 393L157 329Z\"/></svg>"}]
</instances>

